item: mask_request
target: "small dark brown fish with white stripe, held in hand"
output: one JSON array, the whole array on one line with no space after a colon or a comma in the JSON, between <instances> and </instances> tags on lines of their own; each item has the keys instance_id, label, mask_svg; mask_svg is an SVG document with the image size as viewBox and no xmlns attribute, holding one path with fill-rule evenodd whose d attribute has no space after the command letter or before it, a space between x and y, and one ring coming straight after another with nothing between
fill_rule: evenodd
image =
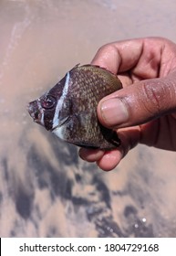
<instances>
[{"instance_id":1,"label":"small dark brown fish with white stripe, held in hand","mask_svg":"<svg viewBox=\"0 0 176 256\"><path fill-rule=\"evenodd\" d=\"M122 88L118 76L96 65L76 65L27 110L34 122L61 140L92 149L119 147L116 131L98 121L98 101Z\"/></svg>"}]
</instances>

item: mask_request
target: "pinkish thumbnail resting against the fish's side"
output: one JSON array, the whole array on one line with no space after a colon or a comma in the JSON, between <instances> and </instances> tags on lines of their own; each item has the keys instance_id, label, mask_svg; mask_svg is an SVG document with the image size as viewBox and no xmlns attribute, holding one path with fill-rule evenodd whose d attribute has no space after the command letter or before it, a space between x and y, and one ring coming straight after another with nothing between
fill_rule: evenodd
<instances>
[{"instance_id":1,"label":"pinkish thumbnail resting against the fish's side","mask_svg":"<svg viewBox=\"0 0 176 256\"><path fill-rule=\"evenodd\" d=\"M129 113L125 104L117 98L103 101L100 105L101 115L109 126L116 126L127 122Z\"/></svg>"}]
</instances>

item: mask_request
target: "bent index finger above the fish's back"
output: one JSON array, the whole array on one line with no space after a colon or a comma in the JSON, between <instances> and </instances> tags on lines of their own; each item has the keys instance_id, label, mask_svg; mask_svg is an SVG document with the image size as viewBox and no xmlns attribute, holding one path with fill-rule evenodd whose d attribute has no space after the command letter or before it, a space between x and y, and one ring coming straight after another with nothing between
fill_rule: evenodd
<instances>
[{"instance_id":1,"label":"bent index finger above the fish's back","mask_svg":"<svg viewBox=\"0 0 176 256\"><path fill-rule=\"evenodd\" d=\"M160 37L147 37L110 43L98 49L92 64L116 74L133 69L136 76L154 78L158 74L161 49L166 42Z\"/></svg>"}]
</instances>

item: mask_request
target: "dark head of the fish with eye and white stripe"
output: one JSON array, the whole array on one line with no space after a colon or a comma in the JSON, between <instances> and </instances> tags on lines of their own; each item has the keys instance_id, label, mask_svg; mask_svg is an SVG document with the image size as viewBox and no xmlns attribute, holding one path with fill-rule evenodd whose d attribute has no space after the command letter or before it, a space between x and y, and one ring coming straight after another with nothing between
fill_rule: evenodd
<instances>
[{"instance_id":1,"label":"dark head of the fish with eye and white stripe","mask_svg":"<svg viewBox=\"0 0 176 256\"><path fill-rule=\"evenodd\" d=\"M28 104L27 109L34 122L44 126L48 131L54 131L69 118L68 76L69 74L50 91Z\"/></svg>"}]
</instances>

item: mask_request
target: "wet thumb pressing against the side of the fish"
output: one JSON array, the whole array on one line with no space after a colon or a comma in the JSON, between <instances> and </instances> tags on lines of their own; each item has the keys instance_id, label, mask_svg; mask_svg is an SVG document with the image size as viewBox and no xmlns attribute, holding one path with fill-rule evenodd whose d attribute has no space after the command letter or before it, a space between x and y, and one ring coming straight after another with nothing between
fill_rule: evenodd
<instances>
[{"instance_id":1,"label":"wet thumb pressing against the side of the fish","mask_svg":"<svg viewBox=\"0 0 176 256\"><path fill-rule=\"evenodd\" d=\"M146 123L176 110L176 73L162 79L141 80L103 98L98 119L104 126L120 128Z\"/></svg>"}]
</instances>

